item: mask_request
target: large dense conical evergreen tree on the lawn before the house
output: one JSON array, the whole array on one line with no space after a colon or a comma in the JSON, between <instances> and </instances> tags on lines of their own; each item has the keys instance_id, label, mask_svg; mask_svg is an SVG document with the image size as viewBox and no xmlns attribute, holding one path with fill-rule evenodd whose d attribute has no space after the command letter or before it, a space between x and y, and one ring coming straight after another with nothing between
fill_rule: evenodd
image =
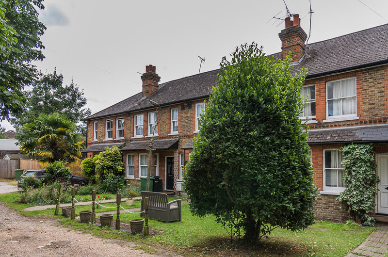
<instances>
[{"instance_id":1,"label":"large dense conical evergreen tree on the lawn before the house","mask_svg":"<svg viewBox=\"0 0 388 257\"><path fill-rule=\"evenodd\" d=\"M305 72L257 44L223 58L184 176L194 215L213 214L231 237L255 242L275 227L314 222L307 135L299 119ZM230 231L230 232L229 232Z\"/></svg>"}]
</instances>

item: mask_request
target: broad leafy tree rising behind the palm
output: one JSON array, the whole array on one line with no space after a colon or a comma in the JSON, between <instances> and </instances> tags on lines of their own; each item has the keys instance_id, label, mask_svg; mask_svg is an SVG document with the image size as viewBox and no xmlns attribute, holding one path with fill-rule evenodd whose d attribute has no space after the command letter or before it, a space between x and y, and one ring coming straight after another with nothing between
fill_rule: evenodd
<instances>
[{"instance_id":1,"label":"broad leafy tree rising behind the palm","mask_svg":"<svg viewBox=\"0 0 388 257\"><path fill-rule=\"evenodd\" d=\"M9 119L16 128L16 139L24 141L30 137L22 127L26 123L31 123L34 116L52 112L65 114L71 122L76 123L77 132L85 135L86 124L81 120L89 116L91 111L85 108L87 100L83 96L83 91L80 91L73 81L70 85L63 85L64 77L62 74L57 74L56 69L52 74L39 72L38 76L38 79L32 83L32 90L24 91L27 99L23 115Z\"/></svg>"}]
</instances>

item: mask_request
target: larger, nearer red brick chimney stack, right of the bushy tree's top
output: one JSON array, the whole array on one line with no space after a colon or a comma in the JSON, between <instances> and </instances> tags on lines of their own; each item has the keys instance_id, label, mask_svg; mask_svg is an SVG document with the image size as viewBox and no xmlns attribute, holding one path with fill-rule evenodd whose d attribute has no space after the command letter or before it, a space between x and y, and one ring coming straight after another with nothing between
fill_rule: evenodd
<instances>
[{"instance_id":1,"label":"larger, nearer red brick chimney stack, right of the bushy tree's top","mask_svg":"<svg viewBox=\"0 0 388 257\"><path fill-rule=\"evenodd\" d=\"M307 34L300 26L299 15L295 14L293 18L285 19L286 28L279 33L279 37L282 41L282 59L286 59L291 51L292 62L298 62L305 55Z\"/></svg>"}]
</instances>

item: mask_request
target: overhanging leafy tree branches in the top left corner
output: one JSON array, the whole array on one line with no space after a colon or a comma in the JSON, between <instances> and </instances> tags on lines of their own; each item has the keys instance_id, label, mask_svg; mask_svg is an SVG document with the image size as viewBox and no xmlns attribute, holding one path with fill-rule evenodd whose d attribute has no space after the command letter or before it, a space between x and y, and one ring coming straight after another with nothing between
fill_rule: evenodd
<instances>
[{"instance_id":1,"label":"overhanging leafy tree branches in the top left corner","mask_svg":"<svg viewBox=\"0 0 388 257\"><path fill-rule=\"evenodd\" d=\"M22 89L31 84L36 69L32 61L43 60L40 41L46 27L35 7L43 0L0 1L0 120L20 115L26 100Z\"/></svg>"}]
</instances>

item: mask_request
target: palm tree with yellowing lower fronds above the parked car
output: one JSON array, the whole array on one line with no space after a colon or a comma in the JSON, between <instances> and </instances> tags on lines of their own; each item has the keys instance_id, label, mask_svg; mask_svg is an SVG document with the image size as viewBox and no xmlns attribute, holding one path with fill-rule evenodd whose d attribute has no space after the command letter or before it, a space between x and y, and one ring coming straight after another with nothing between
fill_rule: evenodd
<instances>
[{"instance_id":1,"label":"palm tree with yellowing lower fronds above the parked car","mask_svg":"<svg viewBox=\"0 0 388 257\"><path fill-rule=\"evenodd\" d=\"M20 150L28 156L44 157L41 162L80 161L83 137L74 122L64 114L42 113L24 126L32 137L21 142Z\"/></svg>"}]
</instances>

